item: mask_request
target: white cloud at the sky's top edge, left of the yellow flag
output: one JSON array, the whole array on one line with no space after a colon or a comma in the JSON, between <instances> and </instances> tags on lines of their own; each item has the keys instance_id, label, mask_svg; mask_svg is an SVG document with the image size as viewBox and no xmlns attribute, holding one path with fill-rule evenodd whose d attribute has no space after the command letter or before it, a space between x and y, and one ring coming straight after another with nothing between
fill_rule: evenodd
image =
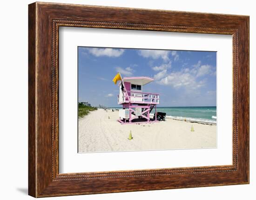
<instances>
[{"instance_id":1,"label":"white cloud at the sky's top edge, left of the yellow flag","mask_svg":"<svg viewBox=\"0 0 256 200\"><path fill-rule=\"evenodd\" d=\"M119 57L123 54L123 49L112 49L112 48L91 48L88 51L96 57L108 56L108 57Z\"/></svg>"}]
</instances>

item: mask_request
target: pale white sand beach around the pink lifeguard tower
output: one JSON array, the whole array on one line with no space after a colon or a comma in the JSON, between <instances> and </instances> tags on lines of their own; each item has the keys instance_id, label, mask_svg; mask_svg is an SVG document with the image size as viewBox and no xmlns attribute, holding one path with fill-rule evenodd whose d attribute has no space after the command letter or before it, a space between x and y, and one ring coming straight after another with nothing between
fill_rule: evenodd
<instances>
[{"instance_id":1,"label":"pale white sand beach around the pink lifeguard tower","mask_svg":"<svg viewBox=\"0 0 256 200\"><path fill-rule=\"evenodd\" d=\"M109 118L108 118L109 116ZM216 125L166 119L159 123L117 122L118 111L98 109L79 119L79 152L216 148ZM193 124L194 132L191 130ZM132 131L132 140L128 140Z\"/></svg>"}]
</instances>

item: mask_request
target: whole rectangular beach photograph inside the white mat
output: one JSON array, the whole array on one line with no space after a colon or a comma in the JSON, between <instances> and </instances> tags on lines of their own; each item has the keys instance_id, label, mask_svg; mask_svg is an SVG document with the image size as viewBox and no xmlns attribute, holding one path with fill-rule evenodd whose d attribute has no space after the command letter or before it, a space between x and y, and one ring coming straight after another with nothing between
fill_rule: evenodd
<instances>
[{"instance_id":1,"label":"whole rectangular beach photograph inside the white mat","mask_svg":"<svg viewBox=\"0 0 256 200\"><path fill-rule=\"evenodd\" d=\"M217 148L216 52L78 47L78 153Z\"/></svg>"}]
</instances>

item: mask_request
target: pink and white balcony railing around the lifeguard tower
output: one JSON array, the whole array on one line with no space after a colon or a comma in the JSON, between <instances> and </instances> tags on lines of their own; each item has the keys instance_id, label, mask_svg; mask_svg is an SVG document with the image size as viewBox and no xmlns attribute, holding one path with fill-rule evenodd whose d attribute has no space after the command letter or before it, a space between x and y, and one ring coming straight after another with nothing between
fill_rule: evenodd
<instances>
[{"instance_id":1,"label":"pink and white balcony railing around the lifeguard tower","mask_svg":"<svg viewBox=\"0 0 256 200\"><path fill-rule=\"evenodd\" d=\"M159 104L159 94L151 92L139 92L139 91L126 91L120 99L117 95L118 104L123 103L145 103L145 104Z\"/></svg>"}]
</instances>

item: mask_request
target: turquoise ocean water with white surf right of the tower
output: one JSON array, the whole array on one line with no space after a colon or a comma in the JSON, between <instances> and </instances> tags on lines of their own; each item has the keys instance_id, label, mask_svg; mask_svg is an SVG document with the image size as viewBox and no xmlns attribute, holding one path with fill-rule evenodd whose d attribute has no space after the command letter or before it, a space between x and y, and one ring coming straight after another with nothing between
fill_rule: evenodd
<instances>
[{"instance_id":1,"label":"turquoise ocean water with white surf right of the tower","mask_svg":"<svg viewBox=\"0 0 256 200\"><path fill-rule=\"evenodd\" d=\"M157 112L165 112L167 118L203 123L216 123L216 106L200 107L157 107Z\"/></svg>"}]
</instances>

